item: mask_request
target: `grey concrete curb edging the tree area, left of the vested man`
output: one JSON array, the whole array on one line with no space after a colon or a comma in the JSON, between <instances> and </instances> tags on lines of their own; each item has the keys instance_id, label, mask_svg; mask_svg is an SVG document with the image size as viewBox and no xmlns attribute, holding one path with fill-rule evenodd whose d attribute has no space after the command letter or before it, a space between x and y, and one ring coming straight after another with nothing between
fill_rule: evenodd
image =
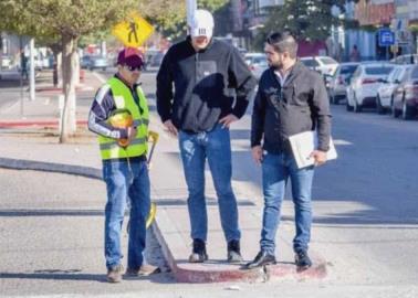
<instances>
[{"instance_id":1,"label":"grey concrete curb edging the tree area, left of the vested man","mask_svg":"<svg viewBox=\"0 0 418 298\"><path fill-rule=\"evenodd\" d=\"M91 167L71 166L64 163L0 158L0 168L74 174L102 180L102 170Z\"/></svg>"}]
</instances>

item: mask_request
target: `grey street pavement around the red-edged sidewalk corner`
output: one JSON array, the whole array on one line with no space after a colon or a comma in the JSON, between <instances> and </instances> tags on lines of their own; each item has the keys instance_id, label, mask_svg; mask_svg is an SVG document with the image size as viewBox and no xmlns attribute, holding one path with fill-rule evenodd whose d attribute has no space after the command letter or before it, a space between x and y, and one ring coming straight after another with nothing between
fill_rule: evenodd
<instances>
[{"instance_id":1,"label":"grey street pavement around the red-edged sidewalk corner","mask_svg":"<svg viewBox=\"0 0 418 298\"><path fill-rule=\"evenodd\" d=\"M112 73L101 75L105 78ZM151 119L159 120L155 73L144 73L142 82ZM86 93L77 104L88 106L93 95ZM315 173L311 242L312 249L327 260L326 279L238 283L239 292L224 284L176 284L169 273L105 284L101 255L104 184L0 169L0 296L417 297L418 121L367 110L347 113L344 105L332 106L332 114L338 159ZM249 148L250 123L251 108L232 126L233 181L239 193L261 206L260 169ZM291 242L293 204L290 194L286 199L279 233Z\"/></svg>"}]
</instances>

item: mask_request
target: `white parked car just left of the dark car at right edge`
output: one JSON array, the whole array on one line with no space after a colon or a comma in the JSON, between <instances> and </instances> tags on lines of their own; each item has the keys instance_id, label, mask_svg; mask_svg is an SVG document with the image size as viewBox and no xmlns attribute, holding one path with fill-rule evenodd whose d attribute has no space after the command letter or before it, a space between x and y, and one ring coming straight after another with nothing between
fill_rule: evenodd
<instances>
[{"instance_id":1,"label":"white parked car just left of the dark car at right edge","mask_svg":"<svg viewBox=\"0 0 418 298\"><path fill-rule=\"evenodd\" d=\"M407 70L410 67L410 65L397 65L390 72L387 79L379 79L382 84L377 88L376 96L376 110L378 114L385 114L386 110L391 108L394 91L403 81Z\"/></svg>"}]
</instances>

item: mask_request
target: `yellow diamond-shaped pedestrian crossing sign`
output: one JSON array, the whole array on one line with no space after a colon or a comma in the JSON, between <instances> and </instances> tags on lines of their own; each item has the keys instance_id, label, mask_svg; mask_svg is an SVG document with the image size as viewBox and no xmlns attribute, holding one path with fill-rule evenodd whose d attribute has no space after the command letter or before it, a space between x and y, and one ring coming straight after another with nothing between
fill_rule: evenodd
<instances>
[{"instance_id":1,"label":"yellow diamond-shaped pedestrian crossing sign","mask_svg":"<svg viewBox=\"0 0 418 298\"><path fill-rule=\"evenodd\" d=\"M154 32L154 28L138 13L132 13L127 20L116 24L112 34L115 35L125 46L140 46Z\"/></svg>"}]
</instances>

